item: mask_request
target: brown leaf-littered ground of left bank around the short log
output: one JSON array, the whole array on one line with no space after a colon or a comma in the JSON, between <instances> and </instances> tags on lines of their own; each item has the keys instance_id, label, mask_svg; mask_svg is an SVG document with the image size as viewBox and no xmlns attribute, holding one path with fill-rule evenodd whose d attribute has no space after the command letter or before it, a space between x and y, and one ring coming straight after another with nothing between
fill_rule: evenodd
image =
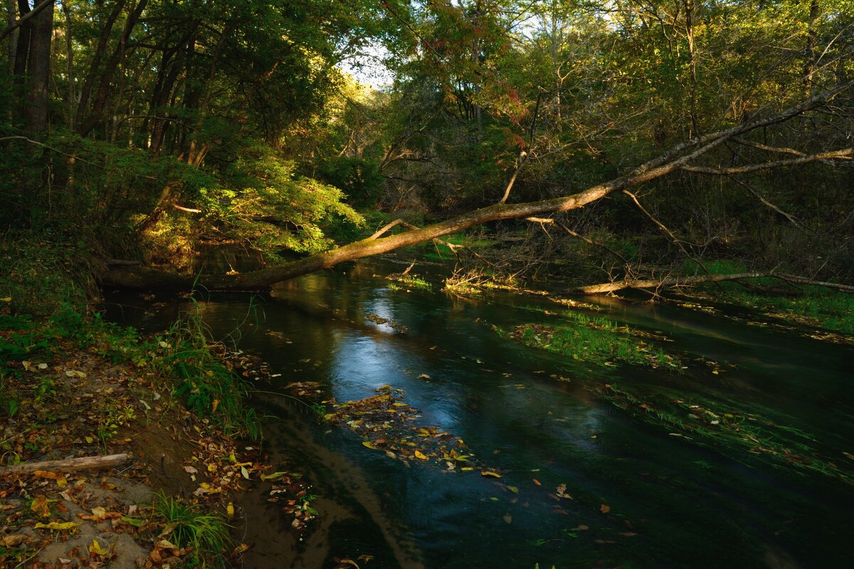
<instances>
[{"instance_id":1,"label":"brown leaf-littered ground of left bank around the short log","mask_svg":"<svg viewBox=\"0 0 854 569\"><path fill-rule=\"evenodd\" d=\"M0 327L0 343L20 344L15 334ZM240 352L220 357L252 380L268 373ZM233 503L271 486L290 498L280 505L294 531L311 517L297 477L191 413L148 364L55 337L0 367L0 567L239 565L250 546L231 537L246 521ZM14 466L117 453L129 460L100 472Z\"/></svg>"}]
</instances>

